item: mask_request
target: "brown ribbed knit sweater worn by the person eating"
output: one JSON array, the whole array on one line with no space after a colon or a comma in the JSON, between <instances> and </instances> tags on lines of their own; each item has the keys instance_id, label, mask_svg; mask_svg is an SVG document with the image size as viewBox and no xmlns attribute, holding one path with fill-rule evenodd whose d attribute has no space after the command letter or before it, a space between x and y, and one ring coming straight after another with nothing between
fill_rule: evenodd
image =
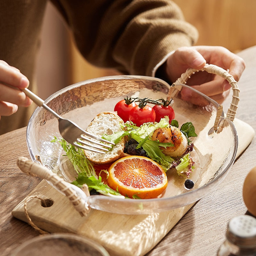
<instances>
[{"instance_id":1,"label":"brown ribbed knit sweater worn by the person eating","mask_svg":"<svg viewBox=\"0 0 256 256\"><path fill-rule=\"evenodd\" d=\"M19 68L36 92L34 68L47 0L0 1L0 60ZM154 76L166 55L197 40L170 0L52 0L84 58L124 74ZM2 116L0 134L28 124L34 111Z\"/></svg>"}]
</instances>

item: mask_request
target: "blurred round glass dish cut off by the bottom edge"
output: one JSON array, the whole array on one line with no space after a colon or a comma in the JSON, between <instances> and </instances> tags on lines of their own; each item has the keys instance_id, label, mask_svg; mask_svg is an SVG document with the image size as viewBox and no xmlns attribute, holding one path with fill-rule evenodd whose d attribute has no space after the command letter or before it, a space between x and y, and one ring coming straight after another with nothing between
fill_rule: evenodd
<instances>
[{"instance_id":1,"label":"blurred round glass dish cut off by the bottom edge","mask_svg":"<svg viewBox=\"0 0 256 256\"><path fill-rule=\"evenodd\" d=\"M103 246L89 238L55 233L37 236L21 244L11 256L110 256Z\"/></svg>"}]
</instances>

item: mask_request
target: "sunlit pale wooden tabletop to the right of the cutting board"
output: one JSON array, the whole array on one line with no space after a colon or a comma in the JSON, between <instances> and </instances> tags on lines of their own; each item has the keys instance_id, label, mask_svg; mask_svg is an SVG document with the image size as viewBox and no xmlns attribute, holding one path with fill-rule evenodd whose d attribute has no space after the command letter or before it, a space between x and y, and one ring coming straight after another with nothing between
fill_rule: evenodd
<instances>
[{"instance_id":1,"label":"sunlit pale wooden tabletop to the right of the cutting board","mask_svg":"<svg viewBox=\"0 0 256 256\"><path fill-rule=\"evenodd\" d=\"M245 60L246 69L238 83L240 102L236 116L256 130L254 54L256 54L256 46L238 54ZM225 109L228 108L228 100L229 97L223 104ZM228 221L247 212L242 188L247 173L256 165L255 158L252 157L255 150L254 137L220 186L198 201L147 256L216 255L225 239Z\"/></svg>"}]
</instances>

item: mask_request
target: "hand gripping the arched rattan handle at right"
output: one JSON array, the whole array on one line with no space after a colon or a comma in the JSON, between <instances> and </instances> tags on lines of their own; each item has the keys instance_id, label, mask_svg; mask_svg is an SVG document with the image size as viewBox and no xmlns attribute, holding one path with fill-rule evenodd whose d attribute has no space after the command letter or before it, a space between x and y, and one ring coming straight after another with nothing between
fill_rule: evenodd
<instances>
[{"instance_id":1,"label":"hand gripping the arched rattan handle at right","mask_svg":"<svg viewBox=\"0 0 256 256\"><path fill-rule=\"evenodd\" d=\"M191 46L181 47L168 57L165 73L170 81L175 82L188 68L201 69L206 63L228 70L236 81L239 80L245 68L244 60L224 47ZM227 97L231 88L226 79L207 72L195 73L188 79L187 85L219 103Z\"/></svg>"}]
</instances>

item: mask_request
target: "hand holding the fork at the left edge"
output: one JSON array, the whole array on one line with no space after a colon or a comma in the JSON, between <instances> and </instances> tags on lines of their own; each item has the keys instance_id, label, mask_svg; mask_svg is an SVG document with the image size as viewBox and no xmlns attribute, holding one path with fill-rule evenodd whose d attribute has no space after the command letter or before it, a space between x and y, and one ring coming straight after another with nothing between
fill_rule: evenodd
<instances>
[{"instance_id":1,"label":"hand holding the fork at the left edge","mask_svg":"<svg viewBox=\"0 0 256 256\"><path fill-rule=\"evenodd\" d=\"M21 74L19 69L0 60L0 119L1 116L14 114L18 110L18 106L28 107L31 105L32 100L19 90L28 85L28 78Z\"/></svg>"}]
</instances>

